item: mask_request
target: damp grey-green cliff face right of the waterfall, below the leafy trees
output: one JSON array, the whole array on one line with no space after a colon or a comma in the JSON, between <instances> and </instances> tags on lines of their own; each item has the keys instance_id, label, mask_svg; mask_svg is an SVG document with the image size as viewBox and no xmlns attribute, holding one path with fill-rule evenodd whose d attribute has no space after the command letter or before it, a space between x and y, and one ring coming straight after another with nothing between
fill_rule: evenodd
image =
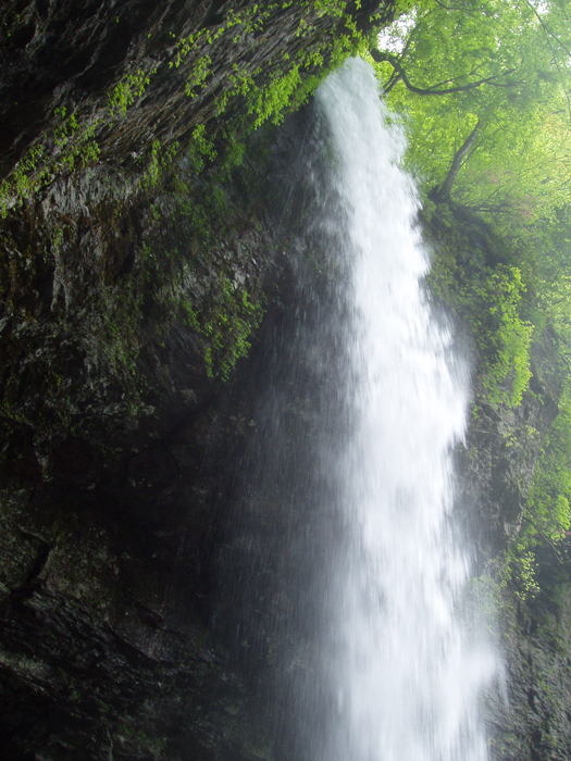
<instances>
[{"instance_id":1,"label":"damp grey-green cliff face right of the waterfall, below the leafy trees","mask_svg":"<svg viewBox=\"0 0 571 761\"><path fill-rule=\"evenodd\" d=\"M436 210L425 232L440 257L433 275L448 267L457 291L470 291L484 267L502 265L509 255L487 225L454 204ZM443 292L438 282L434 292ZM466 310L462 314L454 295L448 302L462 329ZM463 338L475 344L466 322L464 330ZM556 761L571 753L569 537L555 544L537 536L527 546L535 558L513 552L534 519L530 489L558 414L564 371L555 339L546 330L532 345L532 377L516 407L489 401L484 362L473 361L469 427L456 451L457 512L474 553L470 595L476 596L504 664L499 684L482 704L493 761Z\"/></svg>"}]
</instances>

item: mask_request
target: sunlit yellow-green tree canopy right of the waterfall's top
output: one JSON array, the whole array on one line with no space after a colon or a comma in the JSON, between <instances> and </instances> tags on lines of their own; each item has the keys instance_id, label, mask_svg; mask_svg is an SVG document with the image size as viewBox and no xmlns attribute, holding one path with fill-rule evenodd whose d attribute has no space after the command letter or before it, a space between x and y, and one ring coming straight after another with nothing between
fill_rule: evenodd
<instances>
[{"instance_id":1,"label":"sunlit yellow-green tree canopy right of the waterfall's top","mask_svg":"<svg viewBox=\"0 0 571 761\"><path fill-rule=\"evenodd\" d=\"M400 51L398 66L423 91L410 91L389 62L376 64L389 104L406 114L408 161L426 190L442 185L477 124L455 200L522 223L571 201L571 27L562 5L420 2L383 43Z\"/></svg>"}]
</instances>

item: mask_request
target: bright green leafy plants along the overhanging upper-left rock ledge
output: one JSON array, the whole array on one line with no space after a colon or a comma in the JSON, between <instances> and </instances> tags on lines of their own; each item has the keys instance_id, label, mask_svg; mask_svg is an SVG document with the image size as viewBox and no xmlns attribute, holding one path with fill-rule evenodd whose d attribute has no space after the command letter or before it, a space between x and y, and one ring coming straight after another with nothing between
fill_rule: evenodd
<instances>
[{"instance_id":1,"label":"bright green leafy plants along the overhanging upper-left rock ledge","mask_svg":"<svg viewBox=\"0 0 571 761\"><path fill-rule=\"evenodd\" d=\"M229 10L224 21L216 27L203 27L194 35L179 39L172 50L165 51L165 54L166 59L171 59L169 61L171 68L178 68L183 63L187 65L189 58L193 60L184 86L185 93L189 98L198 98L210 84L213 57L222 53L220 46L222 37L224 37L224 55L229 54L231 58L232 41L240 49L245 46L256 48L264 40L264 26L271 15L293 4L291 2L253 3L239 11ZM276 68L271 77L266 77L265 72L260 67L248 64L243 64L240 67L235 64L234 70L227 74L227 82L222 83L221 93L215 99L215 110L219 115L227 111L237 96L241 96L246 101L246 116L235 120L236 124L233 125L235 132L257 128L266 121L278 124L286 113L307 100L328 71L339 65L351 53L365 49L362 36L346 12L348 5L346 0L302 0L296 4L301 7L302 12L296 34L299 37L312 36L312 43L309 47L300 47L291 61L284 55L283 66ZM360 3L357 2L358 8L359 5ZM322 35L322 32L312 25L311 14L314 14L315 10L319 16L331 16L337 25L335 35ZM171 36L176 40L174 33L171 33ZM228 39L229 36L232 39ZM229 53L228 50L231 50ZM325 58L331 61L327 67L323 66ZM65 107L59 109L55 115L60 117L60 123L52 134L44 135L0 186L0 215L5 216L10 208L29 199L62 172L69 173L96 164L100 153L99 145L95 139L96 132L105 123L124 120L131 109L137 108L152 84L157 71L158 67L148 71L139 67L129 72L109 92L107 115L101 115L96 122L85 124L78 113L74 112L66 117ZM195 154L199 141L200 138L195 130L194 146L190 147L190 151ZM231 148L235 157L235 140L232 144ZM157 189L159 183L166 179L176 160L182 158L172 150L172 146L163 146L158 138L137 150L139 162L144 166L140 187L146 190ZM197 162L197 172L200 172L204 163L214 158L215 151L212 147L202 150L198 146L198 153L201 160Z\"/></svg>"}]
</instances>

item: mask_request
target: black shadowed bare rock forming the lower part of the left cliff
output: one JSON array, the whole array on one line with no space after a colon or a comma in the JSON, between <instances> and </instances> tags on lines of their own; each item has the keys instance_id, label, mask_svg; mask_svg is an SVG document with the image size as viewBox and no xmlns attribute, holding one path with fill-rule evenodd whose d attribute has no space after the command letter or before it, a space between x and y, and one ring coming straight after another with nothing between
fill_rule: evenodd
<instances>
[{"instance_id":1,"label":"black shadowed bare rock forming the lower part of the left cliff","mask_svg":"<svg viewBox=\"0 0 571 761\"><path fill-rule=\"evenodd\" d=\"M266 233L235 240L244 277L247 255L269 266ZM48 364L65 349L58 338L41 347ZM67 366L82 378L72 338ZM40 433L17 421L4 441L4 758L246 759L270 747L207 628L210 558L251 417L224 412L227 391L208 377L187 322L173 321L137 367L162 390L138 419L111 376L101 396L80 385L78 429L54 404Z\"/></svg>"}]
</instances>

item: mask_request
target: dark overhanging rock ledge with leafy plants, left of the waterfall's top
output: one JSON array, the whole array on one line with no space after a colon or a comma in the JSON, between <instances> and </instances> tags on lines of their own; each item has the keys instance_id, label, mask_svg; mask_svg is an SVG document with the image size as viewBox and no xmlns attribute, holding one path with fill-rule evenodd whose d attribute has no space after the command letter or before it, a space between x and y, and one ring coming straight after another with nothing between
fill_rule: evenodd
<instances>
[{"instance_id":1,"label":"dark overhanging rock ledge with leafy plants, left of the waterfall's top","mask_svg":"<svg viewBox=\"0 0 571 761\"><path fill-rule=\"evenodd\" d=\"M98 142L99 164L136 174L153 140L188 142L204 123L215 132L221 113L251 105L246 90L296 64L303 64L300 80L326 66L332 35L349 34L345 18L364 30L389 9L372 0L9 0L0 27L0 179L30 146L61 159L78 137ZM60 169L50 165L52 174Z\"/></svg>"}]
</instances>

